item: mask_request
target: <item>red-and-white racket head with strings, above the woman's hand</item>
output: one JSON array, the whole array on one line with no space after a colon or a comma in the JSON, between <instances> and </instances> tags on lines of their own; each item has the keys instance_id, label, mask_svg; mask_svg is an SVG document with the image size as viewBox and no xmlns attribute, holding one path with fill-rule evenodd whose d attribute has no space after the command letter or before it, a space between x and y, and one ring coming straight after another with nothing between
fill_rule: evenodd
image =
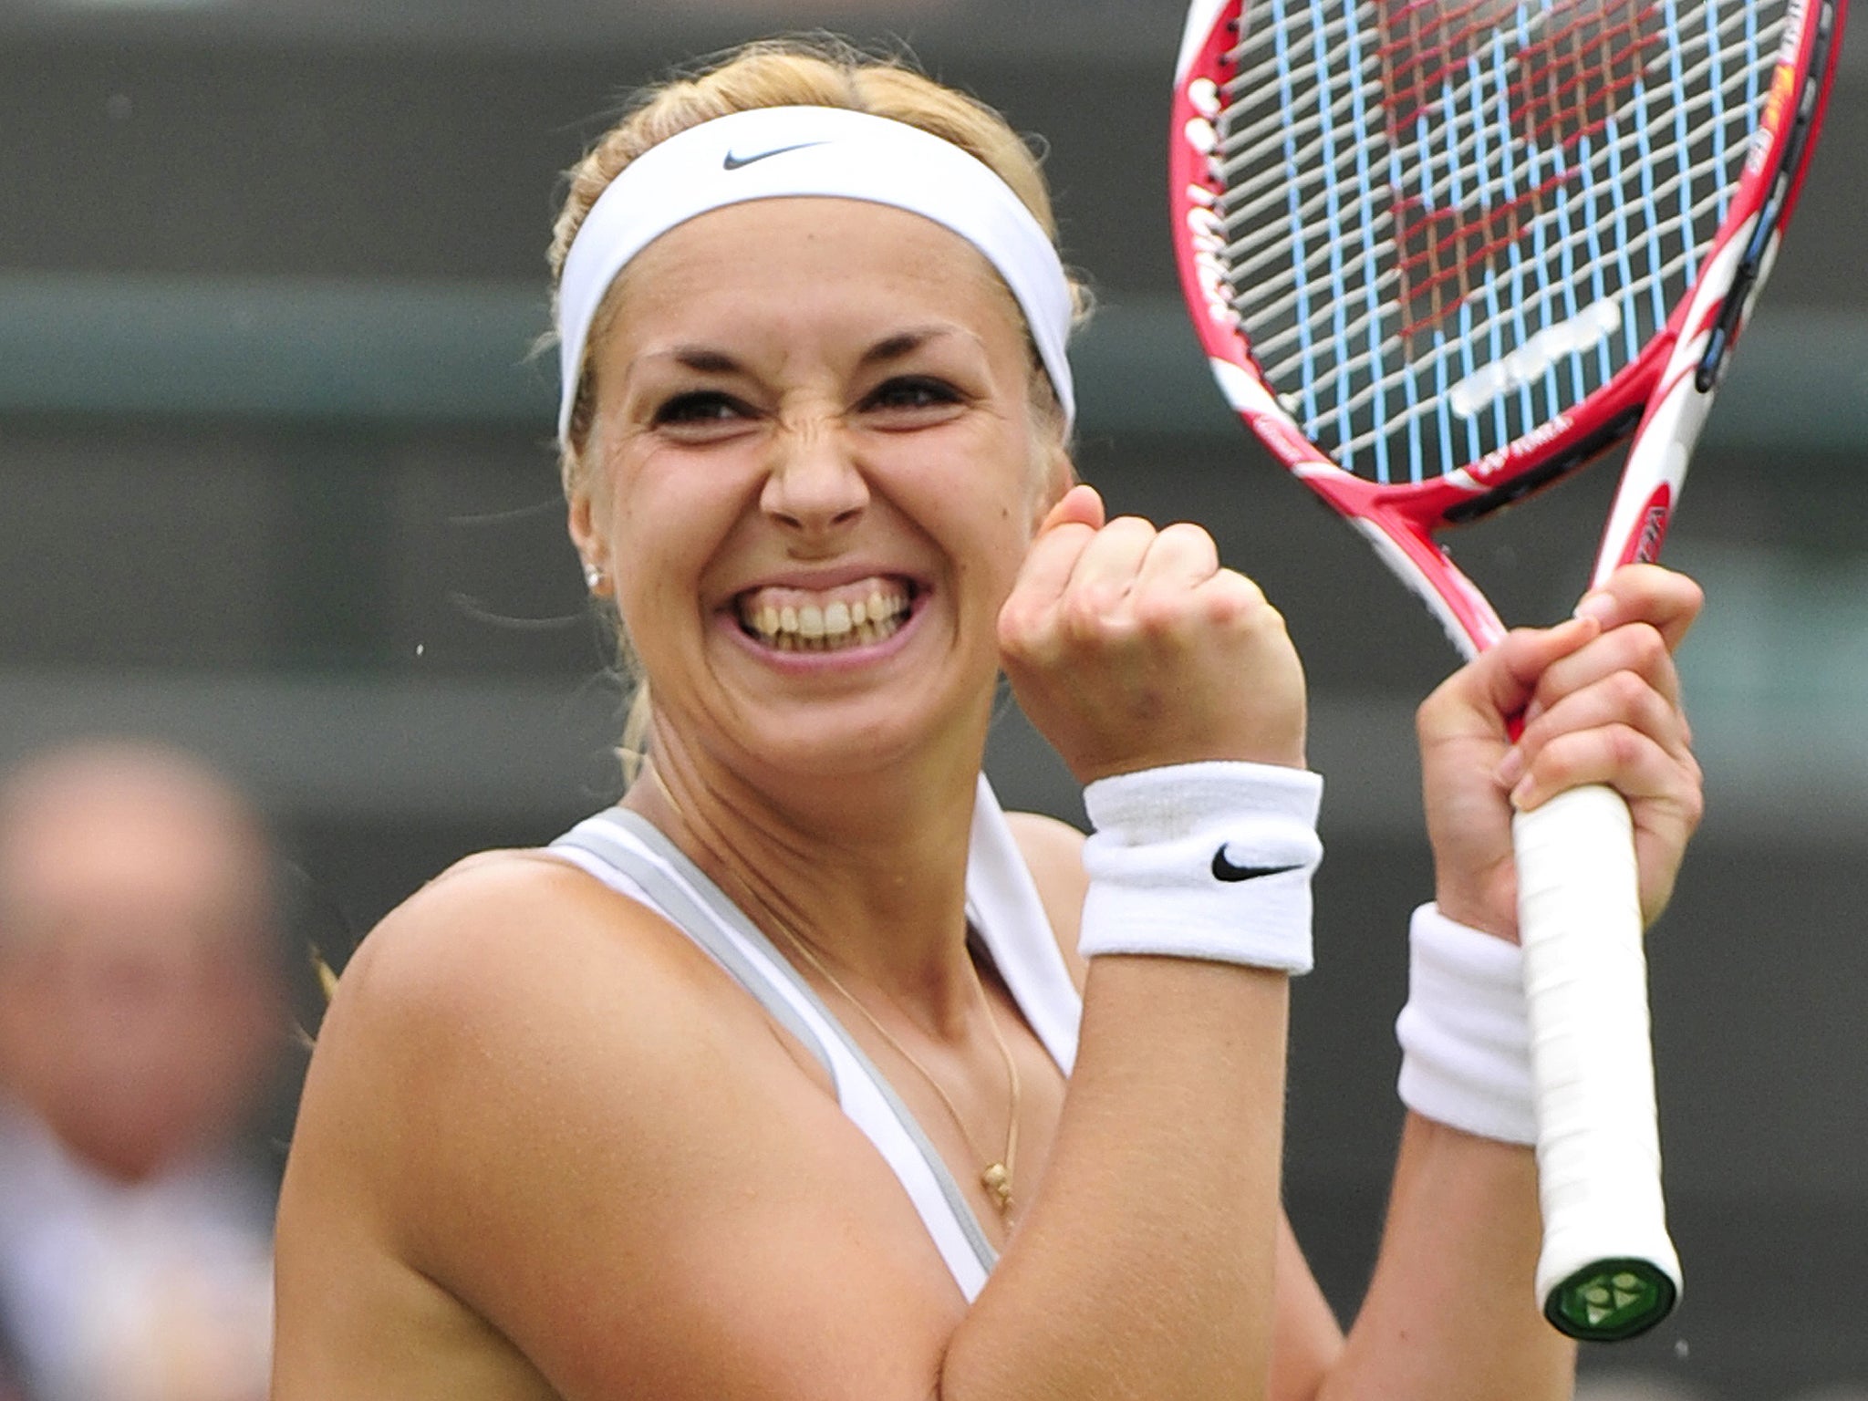
<instances>
[{"instance_id":1,"label":"red-and-white racket head with strings, above the woman's hand","mask_svg":"<svg viewBox=\"0 0 1868 1401\"><path fill-rule=\"evenodd\" d=\"M1504 630L1431 534L1629 437L1724 318L1722 362L1840 22L1836 0L1194 4L1169 205L1209 362L1463 650Z\"/></svg>"}]
</instances>

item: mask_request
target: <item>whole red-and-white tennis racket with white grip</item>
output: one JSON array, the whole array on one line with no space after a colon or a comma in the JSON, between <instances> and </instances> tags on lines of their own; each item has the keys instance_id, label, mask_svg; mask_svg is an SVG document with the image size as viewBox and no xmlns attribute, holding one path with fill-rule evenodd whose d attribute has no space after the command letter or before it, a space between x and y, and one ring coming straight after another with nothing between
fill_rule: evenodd
<instances>
[{"instance_id":1,"label":"whole red-and-white tennis racket with white grip","mask_svg":"<svg viewBox=\"0 0 1868 1401\"><path fill-rule=\"evenodd\" d=\"M1225 398L1466 656L1504 626L1435 534L1633 435L1593 583L1661 549L1821 125L1844 0L1196 0L1181 284ZM1633 829L1515 820L1545 1242L1565 1334L1679 1295Z\"/></svg>"}]
</instances>

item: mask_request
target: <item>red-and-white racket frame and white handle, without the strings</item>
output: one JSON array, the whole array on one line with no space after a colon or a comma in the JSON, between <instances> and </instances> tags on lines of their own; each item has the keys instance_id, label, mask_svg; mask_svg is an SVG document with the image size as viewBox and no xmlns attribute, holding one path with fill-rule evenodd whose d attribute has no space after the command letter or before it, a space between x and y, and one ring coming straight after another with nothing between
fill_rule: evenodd
<instances>
[{"instance_id":1,"label":"red-and-white racket frame and white handle, without the strings","mask_svg":"<svg viewBox=\"0 0 1868 1401\"><path fill-rule=\"evenodd\" d=\"M1834 78L1846 0L1788 6L1771 90L1726 219L1664 327L1571 411L1478 461L1412 484L1354 476L1313 445L1267 383L1233 306L1220 258L1222 181L1210 153L1218 146L1227 54L1238 47L1240 9L1242 0L1194 0L1188 11L1168 161L1181 290L1227 402L1293 476L1364 534L1466 658L1494 646L1506 628L1435 532L1511 506L1629 435L1634 443L1592 587L1625 562L1653 560L1719 375L1801 194ZM1674 1308L1681 1272L1661 1196L1629 811L1606 786L1577 788L1519 814L1513 844L1545 1214L1537 1304L1552 1326L1573 1337L1634 1337ZM1578 884L1577 870L1592 872L1592 880ZM1567 994L1550 992L1552 986ZM1614 1020L1605 1018L1605 1009L1614 1009ZM1605 1020L1620 1046L1638 1054L1612 1063L1592 1054L1586 1042L1601 1035ZM1629 1171L1627 1164L1636 1168ZM1580 1181L1573 1181L1577 1173ZM1603 1298L1606 1306L1599 1304Z\"/></svg>"}]
</instances>

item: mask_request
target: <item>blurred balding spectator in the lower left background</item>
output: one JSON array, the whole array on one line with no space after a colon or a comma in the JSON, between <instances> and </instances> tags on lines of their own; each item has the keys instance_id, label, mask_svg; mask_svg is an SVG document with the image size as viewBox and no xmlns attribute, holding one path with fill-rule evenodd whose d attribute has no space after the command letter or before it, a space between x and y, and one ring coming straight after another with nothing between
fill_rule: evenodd
<instances>
[{"instance_id":1,"label":"blurred balding spectator in the lower left background","mask_svg":"<svg viewBox=\"0 0 1868 1401\"><path fill-rule=\"evenodd\" d=\"M276 949L260 824L192 758L88 743L0 786L0 1397L265 1395L273 1203L230 1143Z\"/></svg>"}]
</instances>

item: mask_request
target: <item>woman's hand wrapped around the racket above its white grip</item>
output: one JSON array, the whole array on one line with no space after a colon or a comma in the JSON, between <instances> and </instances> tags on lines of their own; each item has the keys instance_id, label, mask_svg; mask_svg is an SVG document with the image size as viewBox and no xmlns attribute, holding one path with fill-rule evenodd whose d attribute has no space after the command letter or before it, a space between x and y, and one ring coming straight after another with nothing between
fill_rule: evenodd
<instances>
[{"instance_id":1,"label":"woman's hand wrapped around the racket above its white grip","mask_svg":"<svg viewBox=\"0 0 1868 1401\"><path fill-rule=\"evenodd\" d=\"M1700 601L1685 575L1631 564L1569 622L1513 631L1427 697L1422 786L1444 915L1517 940L1511 813L1606 783L1634 816L1642 919L1659 917L1704 805L1674 671Z\"/></svg>"}]
</instances>

